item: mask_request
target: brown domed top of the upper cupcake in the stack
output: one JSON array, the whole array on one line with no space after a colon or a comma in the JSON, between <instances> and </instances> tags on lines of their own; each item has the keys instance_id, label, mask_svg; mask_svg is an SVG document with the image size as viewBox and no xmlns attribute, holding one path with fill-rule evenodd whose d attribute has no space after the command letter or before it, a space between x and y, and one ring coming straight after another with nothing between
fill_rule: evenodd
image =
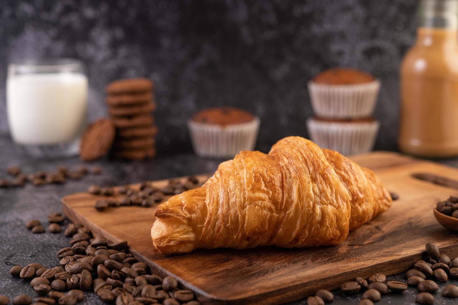
<instances>
[{"instance_id":1,"label":"brown domed top of the upper cupcake in the stack","mask_svg":"<svg viewBox=\"0 0 458 305\"><path fill-rule=\"evenodd\" d=\"M328 69L312 78L315 83L327 85L356 85L374 80L371 74L350 68Z\"/></svg>"}]
</instances>

